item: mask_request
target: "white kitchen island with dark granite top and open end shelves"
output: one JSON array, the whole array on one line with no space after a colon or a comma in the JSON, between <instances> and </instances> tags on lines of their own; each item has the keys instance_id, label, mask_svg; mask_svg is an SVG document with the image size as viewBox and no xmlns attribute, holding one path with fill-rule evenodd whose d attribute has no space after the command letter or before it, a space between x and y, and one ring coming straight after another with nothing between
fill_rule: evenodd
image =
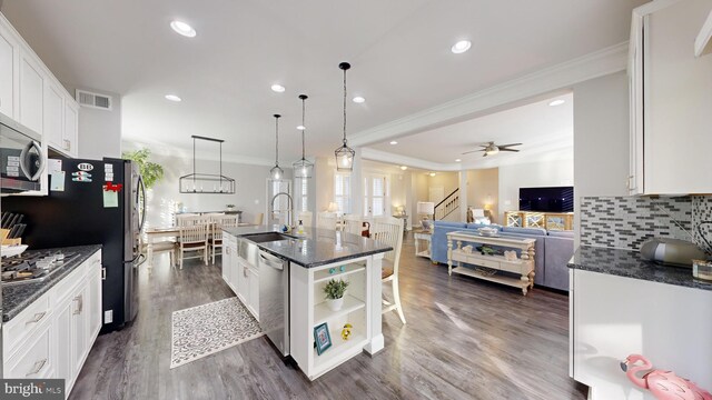
<instances>
[{"instance_id":1,"label":"white kitchen island with dark granite top and open end shelves","mask_svg":"<svg viewBox=\"0 0 712 400\"><path fill-rule=\"evenodd\" d=\"M226 228L222 277L283 356L289 354L314 380L362 351L374 354L382 350L380 268L384 254L393 248L339 231L309 228L303 234L270 233L277 231L278 227L268 226ZM246 250L250 244L257 247L259 256ZM266 266L269 257L283 261L288 277L284 280L288 290L281 288L288 292L288 346L270 336L275 310L281 306L265 301L271 299L265 290L275 292L274 279L273 283L265 281L267 273L274 276L274 268ZM324 299L323 289L330 279L349 282L344 306L337 311L330 310ZM317 351L314 331L324 324L332 344ZM346 324L350 333L344 337Z\"/></svg>"}]
</instances>

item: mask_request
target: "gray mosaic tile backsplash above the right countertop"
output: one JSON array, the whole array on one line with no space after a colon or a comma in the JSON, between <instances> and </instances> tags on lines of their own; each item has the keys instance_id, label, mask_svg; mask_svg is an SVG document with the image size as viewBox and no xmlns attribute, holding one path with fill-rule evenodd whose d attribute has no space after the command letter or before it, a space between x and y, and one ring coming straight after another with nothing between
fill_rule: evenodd
<instances>
[{"instance_id":1,"label":"gray mosaic tile backsplash above the right countertop","mask_svg":"<svg viewBox=\"0 0 712 400\"><path fill-rule=\"evenodd\" d=\"M581 244L640 250L650 238L694 240L698 223L712 220L712 197L589 197L581 199ZM712 224L703 226L712 241Z\"/></svg>"}]
</instances>

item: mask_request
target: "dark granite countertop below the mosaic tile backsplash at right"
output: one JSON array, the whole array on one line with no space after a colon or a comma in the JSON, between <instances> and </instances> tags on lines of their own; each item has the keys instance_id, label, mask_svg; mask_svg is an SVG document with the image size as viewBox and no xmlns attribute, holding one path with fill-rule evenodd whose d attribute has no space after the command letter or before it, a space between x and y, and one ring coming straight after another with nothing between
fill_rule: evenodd
<instances>
[{"instance_id":1,"label":"dark granite countertop below the mosaic tile backsplash at right","mask_svg":"<svg viewBox=\"0 0 712 400\"><path fill-rule=\"evenodd\" d=\"M712 283L692 278L692 267L670 267L643 260L637 251L580 247L568 261L568 268L642 279L651 282L712 290Z\"/></svg>"}]
</instances>

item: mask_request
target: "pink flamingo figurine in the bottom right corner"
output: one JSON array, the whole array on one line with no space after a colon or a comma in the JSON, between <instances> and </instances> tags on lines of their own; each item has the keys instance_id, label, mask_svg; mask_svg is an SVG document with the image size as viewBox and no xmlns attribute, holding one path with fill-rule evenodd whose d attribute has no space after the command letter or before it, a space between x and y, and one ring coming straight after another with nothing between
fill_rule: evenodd
<instances>
[{"instance_id":1,"label":"pink flamingo figurine in the bottom right corner","mask_svg":"<svg viewBox=\"0 0 712 400\"><path fill-rule=\"evenodd\" d=\"M643 364L636 366L637 361ZM639 378L635 373L653 369L653 363L641 354L629 356L621 362L621 369L633 383L650 390L659 400L712 400L709 391L672 371L653 370Z\"/></svg>"}]
</instances>

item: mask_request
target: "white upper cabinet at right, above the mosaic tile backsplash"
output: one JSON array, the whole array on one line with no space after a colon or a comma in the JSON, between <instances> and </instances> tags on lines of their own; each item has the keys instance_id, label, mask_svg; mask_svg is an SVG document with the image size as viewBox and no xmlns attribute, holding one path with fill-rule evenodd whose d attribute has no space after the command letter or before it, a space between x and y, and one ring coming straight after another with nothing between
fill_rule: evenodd
<instances>
[{"instance_id":1,"label":"white upper cabinet at right, above the mosaic tile backsplash","mask_svg":"<svg viewBox=\"0 0 712 400\"><path fill-rule=\"evenodd\" d=\"M656 0L633 11L631 194L712 193L712 56L694 42L712 0Z\"/></svg>"}]
</instances>

